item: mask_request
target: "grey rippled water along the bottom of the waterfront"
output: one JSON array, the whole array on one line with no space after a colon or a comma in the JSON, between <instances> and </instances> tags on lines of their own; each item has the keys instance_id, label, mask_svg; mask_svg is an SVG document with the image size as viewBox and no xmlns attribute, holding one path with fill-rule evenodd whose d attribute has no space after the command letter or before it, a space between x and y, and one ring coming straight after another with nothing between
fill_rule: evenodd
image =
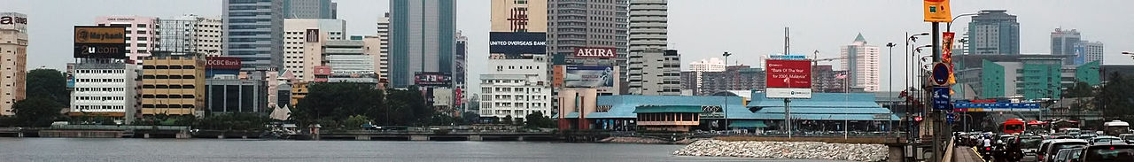
<instances>
[{"instance_id":1,"label":"grey rippled water along the bottom of the waterfront","mask_svg":"<svg viewBox=\"0 0 1134 162\"><path fill-rule=\"evenodd\" d=\"M0 161L813 161L675 156L684 145L0 138Z\"/></svg>"}]
</instances>

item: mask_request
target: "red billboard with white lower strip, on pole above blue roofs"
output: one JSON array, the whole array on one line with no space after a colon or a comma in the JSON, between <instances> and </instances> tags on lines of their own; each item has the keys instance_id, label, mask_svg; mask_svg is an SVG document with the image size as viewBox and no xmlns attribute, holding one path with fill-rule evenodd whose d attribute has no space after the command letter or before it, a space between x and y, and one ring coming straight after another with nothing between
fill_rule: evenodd
<instances>
[{"instance_id":1,"label":"red billboard with white lower strip, on pole above blue roofs","mask_svg":"<svg viewBox=\"0 0 1134 162\"><path fill-rule=\"evenodd\" d=\"M811 60L767 60L768 97L811 99Z\"/></svg>"}]
</instances>

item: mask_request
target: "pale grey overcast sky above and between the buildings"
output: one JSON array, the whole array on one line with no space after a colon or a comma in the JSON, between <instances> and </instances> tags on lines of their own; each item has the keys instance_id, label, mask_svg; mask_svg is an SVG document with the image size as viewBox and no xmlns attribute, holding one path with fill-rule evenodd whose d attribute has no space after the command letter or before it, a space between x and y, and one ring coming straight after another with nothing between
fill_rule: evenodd
<instances>
[{"instance_id":1,"label":"pale grey overcast sky above and between the buildings","mask_svg":"<svg viewBox=\"0 0 1134 162\"><path fill-rule=\"evenodd\" d=\"M221 0L0 0L0 11L28 15L31 69L64 69L71 62L74 25L94 24L96 16L136 15L176 17L185 14L220 16ZM376 33L378 17L389 10L388 0L336 0L338 18L347 22L347 34ZM1122 51L1134 51L1134 12L1128 0L954 0L953 15L1004 9L1019 23L1022 53L1050 53L1050 32L1074 28L1083 40L1106 44L1106 65L1134 63ZM111 7L113 6L113 7ZM669 0L669 48L682 54L682 65L720 57L728 51L730 65L756 65L760 56L782 53L784 28L790 27L790 52L819 58L838 57L839 46L862 34L870 45L882 46L882 89L891 85L888 74L894 49L894 74L902 76L905 33L929 32L919 0ZM959 18L953 31L964 31L968 18ZM457 29L468 36L468 85L479 93L479 74L488 70L489 1L458 0ZM941 24L945 31L945 24ZM960 32L963 34L964 32ZM924 37L928 40L928 37ZM928 44L926 41L917 44ZM830 63L838 67L838 62ZM900 78L895 85L904 85Z\"/></svg>"}]
</instances>

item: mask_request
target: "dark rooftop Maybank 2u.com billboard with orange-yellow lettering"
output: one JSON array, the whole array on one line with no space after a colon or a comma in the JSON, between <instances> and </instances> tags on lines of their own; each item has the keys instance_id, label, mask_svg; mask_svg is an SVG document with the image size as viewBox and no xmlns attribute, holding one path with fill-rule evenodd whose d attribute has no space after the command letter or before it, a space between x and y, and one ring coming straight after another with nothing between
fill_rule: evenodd
<instances>
[{"instance_id":1,"label":"dark rooftop Maybank 2u.com billboard with orange-yellow lettering","mask_svg":"<svg viewBox=\"0 0 1134 162\"><path fill-rule=\"evenodd\" d=\"M75 26L75 58L126 59L126 27Z\"/></svg>"}]
</instances>

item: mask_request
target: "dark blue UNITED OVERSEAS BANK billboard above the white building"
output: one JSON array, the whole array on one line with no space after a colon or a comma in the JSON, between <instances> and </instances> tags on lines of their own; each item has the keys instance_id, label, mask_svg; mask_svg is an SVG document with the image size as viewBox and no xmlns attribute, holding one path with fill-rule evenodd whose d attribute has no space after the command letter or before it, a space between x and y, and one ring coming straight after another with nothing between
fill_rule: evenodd
<instances>
[{"instance_id":1,"label":"dark blue UNITED OVERSEAS BANK billboard above the white building","mask_svg":"<svg viewBox=\"0 0 1134 162\"><path fill-rule=\"evenodd\" d=\"M489 53L543 54L547 46L548 36L543 32L489 33Z\"/></svg>"}]
</instances>

